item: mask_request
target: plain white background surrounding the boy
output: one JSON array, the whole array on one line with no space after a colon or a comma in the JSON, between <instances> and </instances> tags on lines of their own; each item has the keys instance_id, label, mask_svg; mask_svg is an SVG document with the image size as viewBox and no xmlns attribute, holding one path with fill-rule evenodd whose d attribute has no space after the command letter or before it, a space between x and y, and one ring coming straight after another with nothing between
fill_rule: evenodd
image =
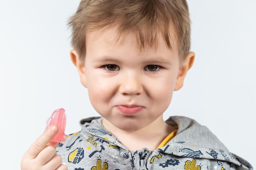
<instances>
[{"instance_id":1,"label":"plain white background surrounding the boy","mask_svg":"<svg viewBox=\"0 0 256 170\"><path fill-rule=\"evenodd\" d=\"M209 127L256 168L256 0L189 0L196 59L170 115ZM0 169L20 160L57 108L66 133L97 113L70 61L67 19L79 0L0 0ZM193 134L192 134L193 135Z\"/></svg>"}]
</instances>

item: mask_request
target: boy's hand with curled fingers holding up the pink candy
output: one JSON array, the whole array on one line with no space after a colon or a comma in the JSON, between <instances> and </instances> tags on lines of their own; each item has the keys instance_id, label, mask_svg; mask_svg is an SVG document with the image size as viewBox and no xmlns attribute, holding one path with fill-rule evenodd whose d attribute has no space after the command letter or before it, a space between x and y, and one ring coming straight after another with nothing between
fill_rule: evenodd
<instances>
[{"instance_id":1,"label":"boy's hand with curled fingers holding up the pink candy","mask_svg":"<svg viewBox=\"0 0 256 170\"><path fill-rule=\"evenodd\" d=\"M58 143L50 142L57 132L56 126L50 127L30 146L22 158L21 170L67 170L56 154Z\"/></svg>"}]
</instances>

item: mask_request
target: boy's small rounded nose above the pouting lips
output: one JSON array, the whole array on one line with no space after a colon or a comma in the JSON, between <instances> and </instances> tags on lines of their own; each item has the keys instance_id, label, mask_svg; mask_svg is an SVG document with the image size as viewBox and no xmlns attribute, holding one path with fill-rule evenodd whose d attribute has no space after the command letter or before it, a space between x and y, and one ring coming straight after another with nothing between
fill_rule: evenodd
<instances>
[{"instance_id":1,"label":"boy's small rounded nose above the pouting lips","mask_svg":"<svg viewBox=\"0 0 256 170\"><path fill-rule=\"evenodd\" d=\"M119 92L122 95L140 95L143 93L142 76L136 72L128 72L121 75Z\"/></svg>"}]
</instances>

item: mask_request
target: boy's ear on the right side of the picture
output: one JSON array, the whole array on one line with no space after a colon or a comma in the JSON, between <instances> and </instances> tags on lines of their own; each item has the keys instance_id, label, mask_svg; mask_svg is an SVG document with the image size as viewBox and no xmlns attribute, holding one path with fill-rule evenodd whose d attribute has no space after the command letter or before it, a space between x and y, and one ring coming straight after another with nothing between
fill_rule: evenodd
<instances>
[{"instance_id":1,"label":"boy's ear on the right side of the picture","mask_svg":"<svg viewBox=\"0 0 256 170\"><path fill-rule=\"evenodd\" d=\"M189 52L186 55L186 59L183 61L182 65L179 68L179 72L177 75L174 91L180 90L182 88L184 79L186 77L186 73L189 71L189 69L193 66L193 62L195 60L195 53Z\"/></svg>"}]
</instances>

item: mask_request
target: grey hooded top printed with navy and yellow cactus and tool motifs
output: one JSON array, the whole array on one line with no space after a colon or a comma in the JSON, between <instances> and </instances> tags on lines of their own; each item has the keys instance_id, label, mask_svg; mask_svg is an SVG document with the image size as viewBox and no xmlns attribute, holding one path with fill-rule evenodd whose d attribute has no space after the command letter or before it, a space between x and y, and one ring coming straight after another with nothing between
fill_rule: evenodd
<instances>
[{"instance_id":1,"label":"grey hooded top printed with navy and yellow cactus and tool motifs","mask_svg":"<svg viewBox=\"0 0 256 170\"><path fill-rule=\"evenodd\" d=\"M188 117L170 117L176 136L162 148L126 149L103 128L102 117L81 120L80 132L56 148L68 170L253 170L205 126Z\"/></svg>"}]
</instances>

